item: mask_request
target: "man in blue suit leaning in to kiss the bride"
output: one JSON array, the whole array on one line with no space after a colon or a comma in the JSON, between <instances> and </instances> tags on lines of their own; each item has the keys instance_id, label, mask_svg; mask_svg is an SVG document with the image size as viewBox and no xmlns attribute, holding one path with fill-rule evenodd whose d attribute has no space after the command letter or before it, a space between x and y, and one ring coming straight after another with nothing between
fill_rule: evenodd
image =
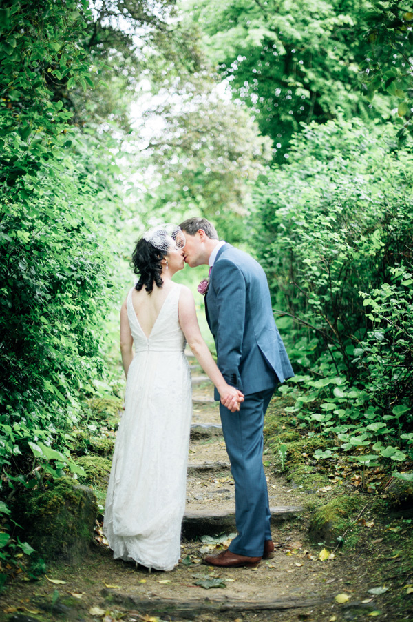
<instances>
[{"instance_id":1,"label":"man in blue suit leaning in to kiss the bride","mask_svg":"<svg viewBox=\"0 0 413 622\"><path fill-rule=\"evenodd\" d=\"M184 261L193 268L209 264L205 295L218 368L244 393L239 412L220 404L222 432L235 481L238 535L229 549L204 561L224 568L255 566L273 556L271 513L262 466L264 414L279 382L294 375L275 325L264 270L255 259L224 241L204 218L180 228L186 240ZM215 399L219 399L215 389Z\"/></svg>"}]
</instances>

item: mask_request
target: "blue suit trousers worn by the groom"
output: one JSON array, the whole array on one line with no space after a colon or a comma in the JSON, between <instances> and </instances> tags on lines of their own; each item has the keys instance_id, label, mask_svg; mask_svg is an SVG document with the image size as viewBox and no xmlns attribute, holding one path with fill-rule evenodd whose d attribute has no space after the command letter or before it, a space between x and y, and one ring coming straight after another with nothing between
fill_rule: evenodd
<instances>
[{"instance_id":1,"label":"blue suit trousers worn by the groom","mask_svg":"<svg viewBox=\"0 0 413 622\"><path fill-rule=\"evenodd\" d=\"M274 388L245 396L238 412L220 404L222 432L235 481L235 521L238 535L229 549L238 555L261 557L271 540L271 512L262 465L264 414Z\"/></svg>"}]
</instances>

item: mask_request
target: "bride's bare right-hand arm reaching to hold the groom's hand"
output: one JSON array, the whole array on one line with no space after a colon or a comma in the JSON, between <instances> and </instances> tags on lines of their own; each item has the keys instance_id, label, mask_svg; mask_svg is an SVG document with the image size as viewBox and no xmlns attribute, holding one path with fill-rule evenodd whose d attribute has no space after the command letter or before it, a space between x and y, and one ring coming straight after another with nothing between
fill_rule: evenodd
<instances>
[{"instance_id":1,"label":"bride's bare right-hand arm reaching to hold the groom's hand","mask_svg":"<svg viewBox=\"0 0 413 622\"><path fill-rule=\"evenodd\" d=\"M204 372L208 374L211 381L213 381L221 396L221 402L232 412L240 410L240 402L244 401L244 396L235 387L231 387L231 385L226 383L213 360L207 344L204 342L204 339L202 339L192 292L186 287L182 287L181 289L178 309L180 327L182 328L185 339L187 339L189 348L191 348L193 354L195 354Z\"/></svg>"}]
</instances>

